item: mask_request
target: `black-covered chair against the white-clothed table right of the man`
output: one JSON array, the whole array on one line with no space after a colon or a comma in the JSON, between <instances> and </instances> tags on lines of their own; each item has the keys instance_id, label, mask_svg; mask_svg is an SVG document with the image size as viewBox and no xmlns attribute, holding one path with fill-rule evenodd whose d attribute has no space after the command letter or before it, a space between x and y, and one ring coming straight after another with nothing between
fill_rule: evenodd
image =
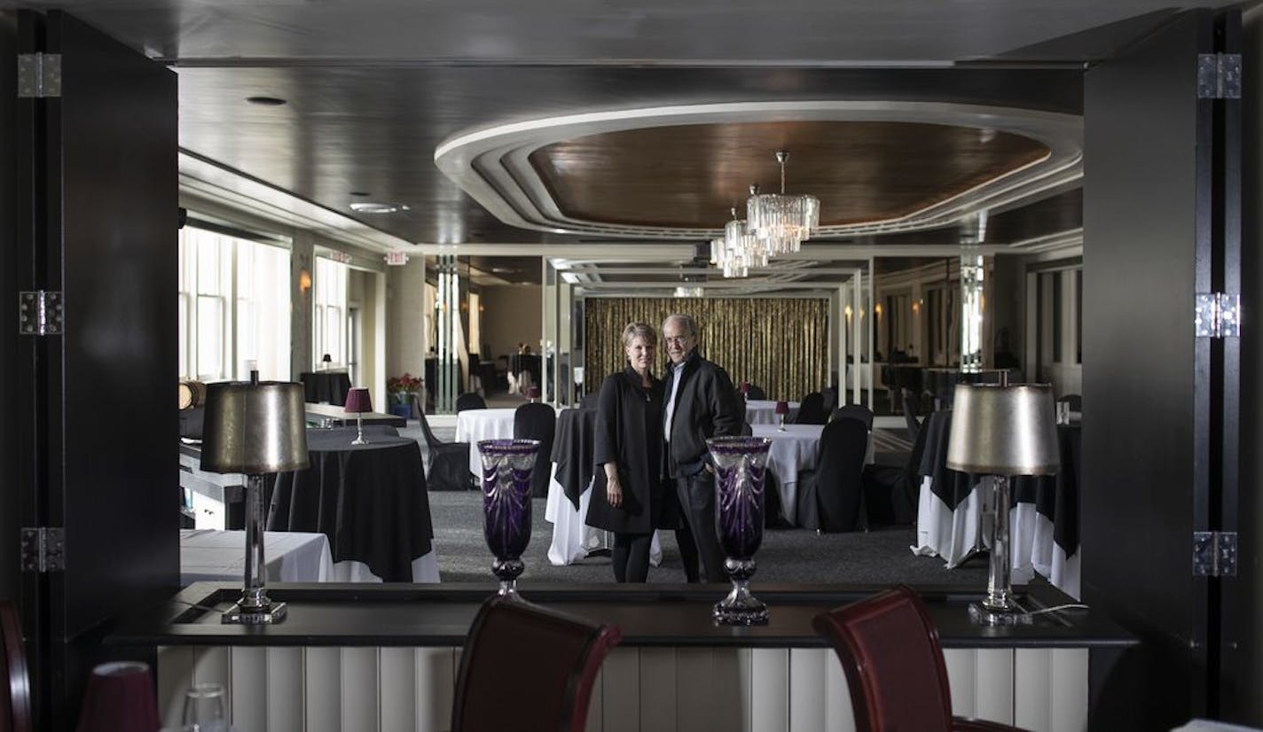
<instances>
[{"instance_id":1,"label":"black-covered chair against the white-clothed table right of the man","mask_svg":"<svg viewBox=\"0 0 1263 732\"><path fill-rule=\"evenodd\" d=\"M825 425L816 453L816 504L821 531L863 531L864 454L868 428L858 419L839 419Z\"/></svg>"}]
</instances>

